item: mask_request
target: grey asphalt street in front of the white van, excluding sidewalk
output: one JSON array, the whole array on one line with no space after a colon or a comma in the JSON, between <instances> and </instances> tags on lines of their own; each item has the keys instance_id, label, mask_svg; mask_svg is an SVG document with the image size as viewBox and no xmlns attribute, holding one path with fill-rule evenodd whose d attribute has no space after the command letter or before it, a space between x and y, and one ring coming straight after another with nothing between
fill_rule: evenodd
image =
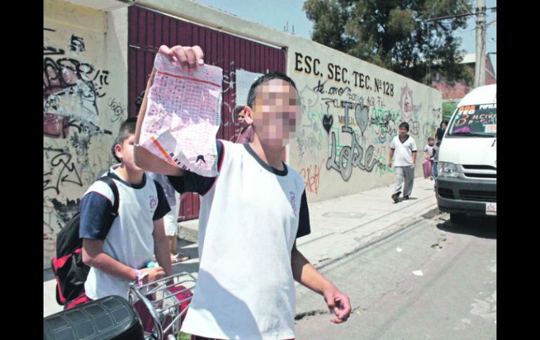
<instances>
[{"instance_id":1,"label":"grey asphalt street in front of the white van, excluding sidewalk","mask_svg":"<svg viewBox=\"0 0 540 340\"><path fill-rule=\"evenodd\" d=\"M320 268L350 294L348 322L299 287L297 339L496 339L497 221L433 215Z\"/></svg>"}]
</instances>

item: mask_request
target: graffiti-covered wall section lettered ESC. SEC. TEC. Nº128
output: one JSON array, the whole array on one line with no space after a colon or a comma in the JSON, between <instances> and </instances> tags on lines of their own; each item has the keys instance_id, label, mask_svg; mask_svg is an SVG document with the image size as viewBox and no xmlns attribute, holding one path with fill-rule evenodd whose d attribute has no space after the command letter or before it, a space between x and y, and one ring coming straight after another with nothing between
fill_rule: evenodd
<instances>
[{"instance_id":1,"label":"graffiti-covered wall section lettered ESC. SEC. TEC. N\u00ba128","mask_svg":"<svg viewBox=\"0 0 540 340\"><path fill-rule=\"evenodd\" d=\"M440 123L439 91L312 41L288 48L288 74L304 105L290 165L310 201L393 183L389 144L399 124L409 123L420 150ZM421 161L419 153L417 175Z\"/></svg>"}]
</instances>

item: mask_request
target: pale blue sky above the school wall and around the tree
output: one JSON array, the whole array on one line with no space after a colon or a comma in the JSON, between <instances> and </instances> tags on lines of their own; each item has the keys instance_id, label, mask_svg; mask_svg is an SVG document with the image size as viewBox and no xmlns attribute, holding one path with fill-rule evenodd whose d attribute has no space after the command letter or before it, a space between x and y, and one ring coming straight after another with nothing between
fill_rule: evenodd
<instances>
[{"instance_id":1,"label":"pale blue sky above the school wall and around the tree","mask_svg":"<svg viewBox=\"0 0 540 340\"><path fill-rule=\"evenodd\" d=\"M257 22L260 25L283 31L287 28L294 33L306 39L311 39L313 22L306 18L306 13L302 11L304 0L194 0L198 3L218 8L222 11L237 15L240 18ZM462 0L465 1L465 0ZM471 1L471 0L468 0ZM476 1L473 0L474 7ZM497 0L486 0L486 7L496 7ZM497 12L487 10L486 24L486 51L497 52ZM466 29L459 29L456 35L462 39L461 48L466 53L475 53L476 45L476 17L468 17ZM497 73L497 54L490 55L495 73Z\"/></svg>"}]
</instances>

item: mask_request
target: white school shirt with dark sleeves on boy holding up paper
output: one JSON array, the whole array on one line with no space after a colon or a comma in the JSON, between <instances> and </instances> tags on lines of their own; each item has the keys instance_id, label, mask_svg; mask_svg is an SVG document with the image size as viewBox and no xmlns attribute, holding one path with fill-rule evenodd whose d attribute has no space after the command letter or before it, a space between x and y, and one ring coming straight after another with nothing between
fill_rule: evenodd
<instances>
[{"instance_id":1,"label":"white school shirt with dark sleeves on boy holding up paper","mask_svg":"<svg viewBox=\"0 0 540 340\"><path fill-rule=\"evenodd\" d=\"M310 233L304 181L276 170L249 144L217 141L220 174L169 177L201 194L198 279L182 332L216 339L291 339L291 251Z\"/></svg>"}]
</instances>

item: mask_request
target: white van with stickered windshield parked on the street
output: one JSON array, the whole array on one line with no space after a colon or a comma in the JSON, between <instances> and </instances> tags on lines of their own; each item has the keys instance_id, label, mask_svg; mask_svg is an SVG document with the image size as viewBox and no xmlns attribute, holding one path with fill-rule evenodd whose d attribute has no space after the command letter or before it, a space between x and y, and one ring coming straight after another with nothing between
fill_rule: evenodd
<instances>
[{"instance_id":1,"label":"white van with stickered windshield parked on the street","mask_svg":"<svg viewBox=\"0 0 540 340\"><path fill-rule=\"evenodd\" d=\"M438 158L439 210L454 223L497 216L497 84L468 93L450 118Z\"/></svg>"}]
</instances>

